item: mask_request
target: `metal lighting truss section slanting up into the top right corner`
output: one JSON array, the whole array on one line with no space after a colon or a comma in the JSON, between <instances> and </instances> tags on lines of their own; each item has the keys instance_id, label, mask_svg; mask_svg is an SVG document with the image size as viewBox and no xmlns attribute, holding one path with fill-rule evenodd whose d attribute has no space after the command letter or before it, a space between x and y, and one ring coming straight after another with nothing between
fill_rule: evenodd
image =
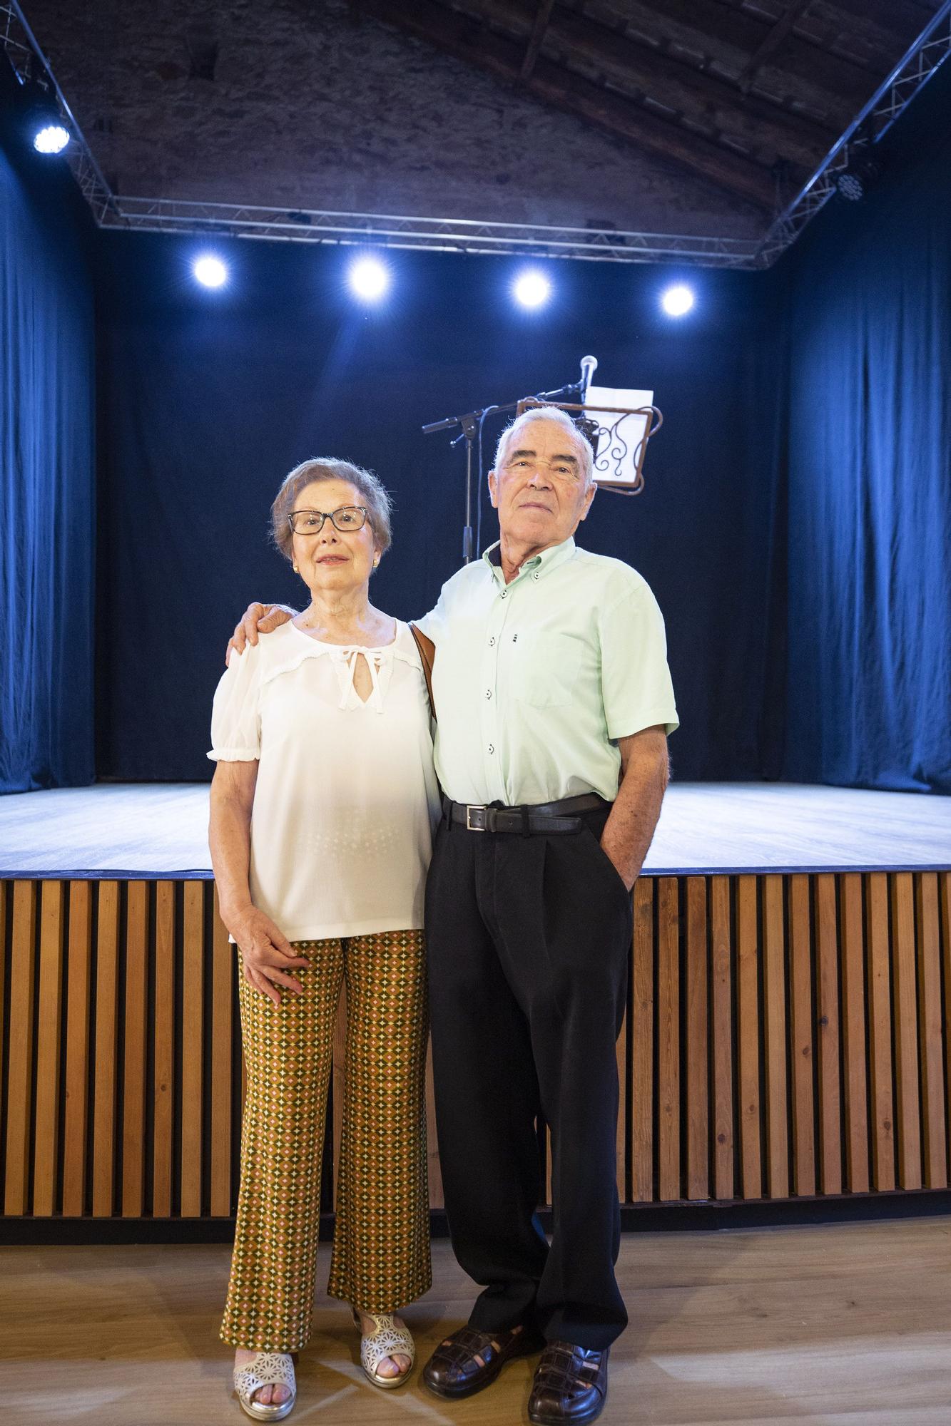
<instances>
[{"instance_id":1,"label":"metal lighting truss section slanting up into the top right corner","mask_svg":"<svg viewBox=\"0 0 951 1426\"><path fill-rule=\"evenodd\" d=\"M870 137L878 143L948 54L951 54L951 0L945 0L932 16L907 54L830 148L805 187L773 220L753 265L773 267L780 254L795 242L807 222L835 193L835 181L855 158L857 150L867 154Z\"/></svg>"}]
</instances>

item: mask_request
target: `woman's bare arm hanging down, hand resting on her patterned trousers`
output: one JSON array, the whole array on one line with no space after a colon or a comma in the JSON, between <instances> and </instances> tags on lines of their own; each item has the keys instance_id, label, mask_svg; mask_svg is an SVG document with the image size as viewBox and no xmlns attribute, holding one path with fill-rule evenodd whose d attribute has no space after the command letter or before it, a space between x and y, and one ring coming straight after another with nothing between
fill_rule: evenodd
<instances>
[{"instance_id":1,"label":"woman's bare arm hanging down, hand resting on her patterned trousers","mask_svg":"<svg viewBox=\"0 0 951 1426\"><path fill-rule=\"evenodd\" d=\"M218 910L241 953L244 978L280 1005L278 985L303 992L300 981L288 975L287 970L310 963L294 955L287 937L251 901L248 868L256 783L257 761L218 761L211 781L208 846L218 888Z\"/></svg>"}]
</instances>

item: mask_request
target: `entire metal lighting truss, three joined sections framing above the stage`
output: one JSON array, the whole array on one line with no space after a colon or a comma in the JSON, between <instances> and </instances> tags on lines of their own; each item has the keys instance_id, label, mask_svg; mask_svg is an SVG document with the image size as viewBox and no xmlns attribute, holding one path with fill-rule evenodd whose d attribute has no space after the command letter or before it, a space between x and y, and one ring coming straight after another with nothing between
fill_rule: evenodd
<instances>
[{"instance_id":1,"label":"entire metal lighting truss, three joined sections framing above the stage","mask_svg":"<svg viewBox=\"0 0 951 1426\"><path fill-rule=\"evenodd\" d=\"M617 228L545 227L524 222L477 222L468 218L418 218L380 212L287 210L256 204L197 202L181 198L126 198L113 194L27 24L19 0L0 0L0 50L21 81L31 56L49 83L70 130L67 157L83 197L103 228L151 232L221 234L284 242L373 244L434 252L478 252L588 262L691 262L697 267L768 268L835 193L868 135L878 141L951 53L951 0L945 0L915 43L878 86L861 113L828 151L795 198L773 220L763 238L718 238Z\"/></svg>"}]
</instances>

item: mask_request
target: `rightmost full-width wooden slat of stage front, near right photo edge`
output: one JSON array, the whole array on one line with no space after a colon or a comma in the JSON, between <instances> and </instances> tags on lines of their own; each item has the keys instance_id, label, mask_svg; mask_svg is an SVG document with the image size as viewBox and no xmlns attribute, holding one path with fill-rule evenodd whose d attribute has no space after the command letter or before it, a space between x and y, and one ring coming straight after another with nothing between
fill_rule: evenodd
<instances>
[{"instance_id":1,"label":"rightmost full-width wooden slat of stage front, near right photo edge","mask_svg":"<svg viewBox=\"0 0 951 1426\"><path fill-rule=\"evenodd\" d=\"M947 1131L941 1068L941 945L938 931L938 877L915 877L918 953L918 1045L921 1052L921 1131L925 1188L945 1188Z\"/></svg>"}]
</instances>

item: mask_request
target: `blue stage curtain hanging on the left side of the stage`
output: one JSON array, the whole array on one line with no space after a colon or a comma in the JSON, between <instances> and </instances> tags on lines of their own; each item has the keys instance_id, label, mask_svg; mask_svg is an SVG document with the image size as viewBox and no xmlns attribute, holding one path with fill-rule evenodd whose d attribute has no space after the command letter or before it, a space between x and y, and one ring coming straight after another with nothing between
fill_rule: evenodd
<instances>
[{"instance_id":1,"label":"blue stage curtain hanging on the left side of the stage","mask_svg":"<svg viewBox=\"0 0 951 1426\"><path fill-rule=\"evenodd\" d=\"M20 151L0 88L0 791L94 776L94 321L89 220Z\"/></svg>"}]
</instances>

